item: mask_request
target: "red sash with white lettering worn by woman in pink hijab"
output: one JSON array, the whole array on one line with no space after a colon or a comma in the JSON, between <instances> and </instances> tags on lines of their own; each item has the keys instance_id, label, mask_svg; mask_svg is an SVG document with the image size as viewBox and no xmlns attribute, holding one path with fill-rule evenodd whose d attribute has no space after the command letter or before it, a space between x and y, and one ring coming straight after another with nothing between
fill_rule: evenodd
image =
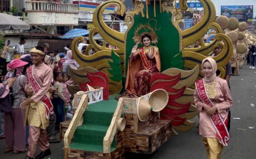
<instances>
[{"instance_id":1,"label":"red sash with white lettering worn by woman in pink hijab","mask_svg":"<svg viewBox=\"0 0 256 159\"><path fill-rule=\"evenodd\" d=\"M207 92L205 91L204 79L200 79L199 81L196 82L196 89L201 101L209 105L210 107L213 107L214 105L212 101L208 98ZM227 125L228 125L227 117L225 117L225 119L223 120L221 115L216 111L211 116L210 119L214 128L216 129L216 137L219 140L219 143L221 143L224 146L227 146L228 145L227 142L229 141L229 133L227 129Z\"/></svg>"}]
</instances>

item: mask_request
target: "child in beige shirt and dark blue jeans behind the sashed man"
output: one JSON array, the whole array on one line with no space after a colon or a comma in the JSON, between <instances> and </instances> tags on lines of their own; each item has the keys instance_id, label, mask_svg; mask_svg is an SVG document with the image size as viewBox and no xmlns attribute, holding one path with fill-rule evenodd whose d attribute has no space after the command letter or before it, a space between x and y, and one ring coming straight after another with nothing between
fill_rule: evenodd
<instances>
[{"instance_id":1,"label":"child in beige shirt and dark blue jeans behind the sashed man","mask_svg":"<svg viewBox=\"0 0 256 159\"><path fill-rule=\"evenodd\" d=\"M53 105L54 105L54 112L57 117L56 127L59 128L60 122L65 120L65 106L68 106L66 97L65 97L65 89L63 85L60 83L62 82L62 74L61 72L54 72L54 80L55 83L53 87L57 90L53 94Z\"/></svg>"}]
</instances>

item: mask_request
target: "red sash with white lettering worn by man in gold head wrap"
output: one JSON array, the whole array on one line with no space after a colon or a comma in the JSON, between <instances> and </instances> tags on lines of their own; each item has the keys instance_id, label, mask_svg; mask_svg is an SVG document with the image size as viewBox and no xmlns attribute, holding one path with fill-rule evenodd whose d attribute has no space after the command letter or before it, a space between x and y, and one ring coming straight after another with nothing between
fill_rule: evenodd
<instances>
[{"instance_id":1,"label":"red sash with white lettering worn by man in gold head wrap","mask_svg":"<svg viewBox=\"0 0 256 159\"><path fill-rule=\"evenodd\" d=\"M28 67L27 69L27 75L28 75L28 79L29 79L29 83L33 88L33 91L35 92L35 94L37 94L37 92L41 89L41 86L39 85L39 83L37 82L37 80L34 78L33 75L33 65ZM46 107L46 118L49 119L49 113L53 113L53 104L51 102L51 100L49 99L49 97L47 95L44 95L41 98L41 102L45 105Z\"/></svg>"}]
</instances>

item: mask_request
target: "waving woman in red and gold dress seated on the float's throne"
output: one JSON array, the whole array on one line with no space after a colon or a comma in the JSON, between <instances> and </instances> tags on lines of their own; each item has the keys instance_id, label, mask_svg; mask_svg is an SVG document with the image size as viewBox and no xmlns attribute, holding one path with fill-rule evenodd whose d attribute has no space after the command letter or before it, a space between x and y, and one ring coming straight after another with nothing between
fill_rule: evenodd
<instances>
[{"instance_id":1,"label":"waving woman in red and gold dress seated on the float's throne","mask_svg":"<svg viewBox=\"0 0 256 159\"><path fill-rule=\"evenodd\" d=\"M137 49L136 44L129 57L125 88L131 94L145 95L150 92L150 78L160 72L161 63L158 48L151 45L151 36L145 34L141 39L144 47Z\"/></svg>"}]
</instances>

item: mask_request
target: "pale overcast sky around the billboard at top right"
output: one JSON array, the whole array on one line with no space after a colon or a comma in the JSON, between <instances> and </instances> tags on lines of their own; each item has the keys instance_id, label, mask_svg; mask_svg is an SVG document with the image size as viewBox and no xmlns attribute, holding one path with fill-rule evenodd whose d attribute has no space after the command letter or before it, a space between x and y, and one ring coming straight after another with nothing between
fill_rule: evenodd
<instances>
[{"instance_id":1,"label":"pale overcast sky around the billboard at top right","mask_svg":"<svg viewBox=\"0 0 256 159\"><path fill-rule=\"evenodd\" d=\"M253 5L253 16L256 16L256 0L212 0L212 2L217 16L221 14L221 5Z\"/></svg>"}]
</instances>

